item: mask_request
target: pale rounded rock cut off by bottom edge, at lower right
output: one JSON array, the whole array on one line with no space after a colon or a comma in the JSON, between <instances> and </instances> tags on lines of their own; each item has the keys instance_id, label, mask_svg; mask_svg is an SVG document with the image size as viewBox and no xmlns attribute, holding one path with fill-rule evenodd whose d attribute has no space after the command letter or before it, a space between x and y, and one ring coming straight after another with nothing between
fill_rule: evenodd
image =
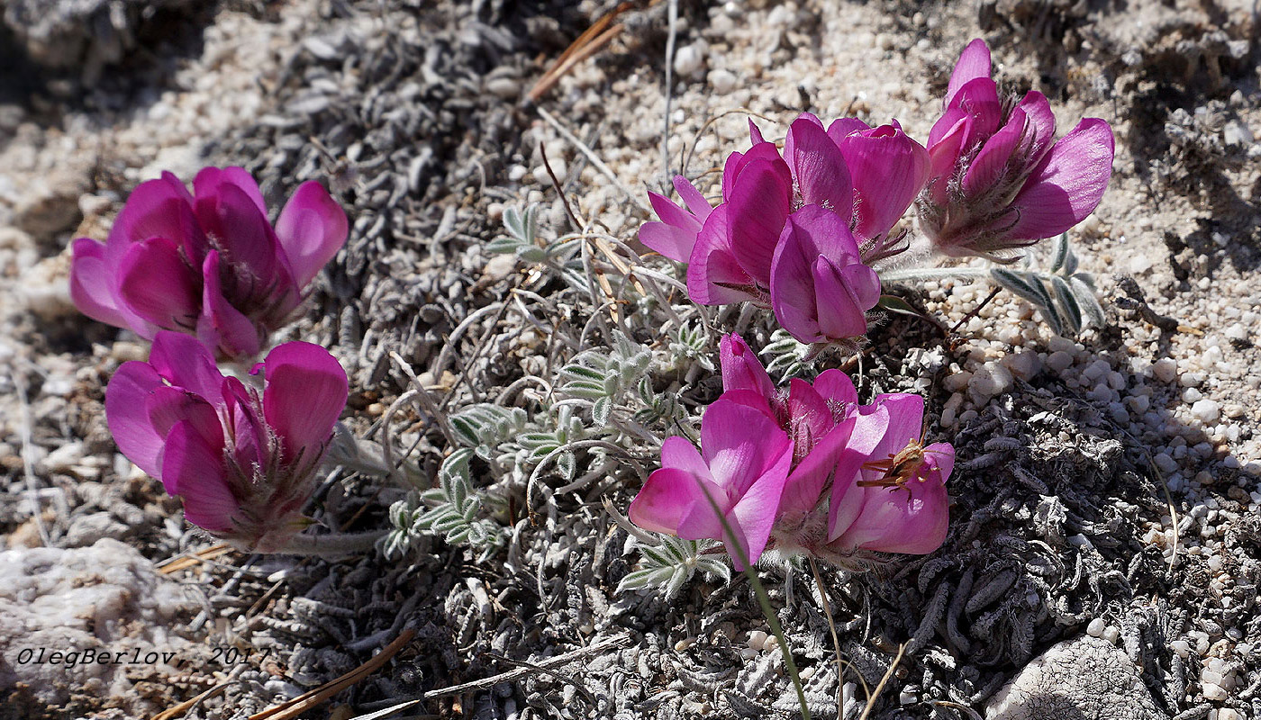
<instances>
[{"instance_id":1,"label":"pale rounded rock cut off by bottom edge, at lower right","mask_svg":"<svg viewBox=\"0 0 1261 720\"><path fill-rule=\"evenodd\" d=\"M1164 720L1130 657L1082 636L1025 666L985 709L987 720Z\"/></svg>"}]
</instances>

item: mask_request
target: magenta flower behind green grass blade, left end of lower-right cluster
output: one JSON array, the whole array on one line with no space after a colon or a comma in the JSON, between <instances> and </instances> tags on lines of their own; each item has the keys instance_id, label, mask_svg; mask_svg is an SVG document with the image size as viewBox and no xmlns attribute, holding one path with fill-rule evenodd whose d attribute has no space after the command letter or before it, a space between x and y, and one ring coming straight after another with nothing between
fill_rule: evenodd
<instances>
[{"instance_id":1,"label":"magenta flower behind green grass blade, left end of lower-right cluster","mask_svg":"<svg viewBox=\"0 0 1261 720\"><path fill-rule=\"evenodd\" d=\"M741 555L757 562L767 546L791 463L792 444L774 421L719 398L701 420L700 451L685 438L662 444L662 467L630 503L630 520L685 540L723 540L743 570Z\"/></svg>"}]
</instances>

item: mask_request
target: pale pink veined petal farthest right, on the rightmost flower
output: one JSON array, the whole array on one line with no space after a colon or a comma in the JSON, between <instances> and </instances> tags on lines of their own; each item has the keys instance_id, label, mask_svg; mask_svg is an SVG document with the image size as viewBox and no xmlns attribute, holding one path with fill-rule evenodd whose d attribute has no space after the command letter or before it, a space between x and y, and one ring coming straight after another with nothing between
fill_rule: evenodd
<instances>
[{"instance_id":1,"label":"pale pink veined petal farthest right, on the rightmost flower","mask_svg":"<svg viewBox=\"0 0 1261 720\"><path fill-rule=\"evenodd\" d=\"M1112 177L1113 139L1107 122L1082 120L1047 153L1011 202L1020 213L1004 235L1039 240L1059 235L1095 212Z\"/></svg>"}]
</instances>

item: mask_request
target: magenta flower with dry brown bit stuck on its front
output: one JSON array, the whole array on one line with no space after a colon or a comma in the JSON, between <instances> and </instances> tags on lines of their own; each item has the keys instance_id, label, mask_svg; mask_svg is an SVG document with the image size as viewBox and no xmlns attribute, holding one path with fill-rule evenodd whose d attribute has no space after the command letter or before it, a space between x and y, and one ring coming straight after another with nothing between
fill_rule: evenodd
<instances>
[{"instance_id":1,"label":"magenta flower with dry brown bit stuck on its front","mask_svg":"<svg viewBox=\"0 0 1261 720\"><path fill-rule=\"evenodd\" d=\"M947 443L924 446L924 398L881 395L854 417L835 468L828 549L924 555L941 547L950 521L946 480L955 468Z\"/></svg>"}]
</instances>

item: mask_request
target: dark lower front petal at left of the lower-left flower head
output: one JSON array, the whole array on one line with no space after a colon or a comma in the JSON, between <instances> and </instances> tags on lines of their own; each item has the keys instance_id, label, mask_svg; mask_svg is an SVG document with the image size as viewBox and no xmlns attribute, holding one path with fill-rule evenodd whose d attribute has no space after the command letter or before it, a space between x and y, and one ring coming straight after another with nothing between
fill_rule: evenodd
<instances>
[{"instance_id":1,"label":"dark lower front petal at left of the lower-left flower head","mask_svg":"<svg viewBox=\"0 0 1261 720\"><path fill-rule=\"evenodd\" d=\"M163 482L184 499L184 518L211 532L232 530L240 503L232 496L222 449L214 448L192 422L177 422L166 435Z\"/></svg>"}]
</instances>

